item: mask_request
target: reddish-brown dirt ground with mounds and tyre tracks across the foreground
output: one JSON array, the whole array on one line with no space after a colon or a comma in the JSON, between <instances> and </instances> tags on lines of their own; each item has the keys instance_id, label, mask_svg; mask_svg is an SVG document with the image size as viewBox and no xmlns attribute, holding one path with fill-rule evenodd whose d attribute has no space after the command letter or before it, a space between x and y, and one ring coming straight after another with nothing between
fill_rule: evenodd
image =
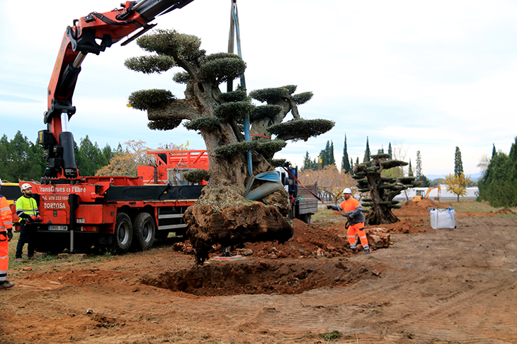
<instances>
[{"instance_id":1,"label":"reddish-brown dirt ground with mounds and tyre tracks across the foreground","mask_svg":"<svg viewBox=\"0 0 517 344\"><path fill-rule=\"evenodd\" d=\"M370 255L346 251L329 213L203 266L171 242L12 261L0 343L517 343L517 216L457 213L455 229L432 230L430 206L395 210L399 223L377 226L392 244Z\"/></svg>"}]
</instances>

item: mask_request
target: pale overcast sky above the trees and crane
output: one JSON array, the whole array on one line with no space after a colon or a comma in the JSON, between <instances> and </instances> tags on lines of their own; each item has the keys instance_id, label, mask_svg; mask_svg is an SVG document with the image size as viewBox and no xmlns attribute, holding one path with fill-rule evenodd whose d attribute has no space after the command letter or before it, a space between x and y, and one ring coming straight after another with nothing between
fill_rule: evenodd
<instances>
[{"instance_id":1,"label":"pale overcast sky above the trees and crane","mask_svg":"<svg viewBox=\"0 0 517 344\"><path fill-rule=\"evenodd\" d=\"M35 142L45 129L47 85L67 25L118 4L0 0L0 134L11 140L19 130ZM289 143L275 158L301 166L306 152L317 158L332 141L341 165L345 134L354 161L362 162L368 137L373 153L391 143L413 166L420 150L426 175L452 173L456 146L466 174L479 172L477 164L492 153L493 143L509 153L517 133L516 1L238 0L237 5L248 90L297 85L297 93L314 93L300 106L302 117L336 122L322 136ZM197 35L211 54L227 49L229 13L229 0L194 0L153 23ZM149 148L188 141L192 149L204 149L193 131L183 126L151 131L147 114L126 106L135 90L166 88L183 97L183 85L171 81L179 69L147 76L123 66L142 54L133 42L86 57L69 124L75 141L88 135L101 148L128 140L145 141Z\"/></svg>"}]
</instances>

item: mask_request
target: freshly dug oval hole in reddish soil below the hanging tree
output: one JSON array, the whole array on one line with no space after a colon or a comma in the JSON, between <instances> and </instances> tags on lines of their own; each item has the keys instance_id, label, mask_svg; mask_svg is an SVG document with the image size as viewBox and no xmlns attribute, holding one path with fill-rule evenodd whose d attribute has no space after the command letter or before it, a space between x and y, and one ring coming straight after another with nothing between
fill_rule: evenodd
<instances>
[{"instance_id":1,"label":"freshly dug oval hole in reddish soil below the hanging tree","mask_svg":"<svg viewBox=\"0 0 517 344\"><path fill-rule=\"evenodd\" d=\"M198 296L300 294L317 287L344 287L376 278L368 266L328 259L210 261L181 271L143 278L142 283Z\"/></svg>"}]
</instances>

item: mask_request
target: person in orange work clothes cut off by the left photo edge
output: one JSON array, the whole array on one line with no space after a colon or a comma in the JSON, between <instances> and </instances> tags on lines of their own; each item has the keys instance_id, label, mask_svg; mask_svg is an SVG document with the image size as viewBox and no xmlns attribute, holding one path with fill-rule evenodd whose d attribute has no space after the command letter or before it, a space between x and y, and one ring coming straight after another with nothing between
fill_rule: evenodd
<instances>
[{"instance_id":1,"label":"person in orange work clothes cut off by the left photo edge","mask_svg":"<svg viewBox=\"0 0 517 344\"><path fill-rule=\"evenodd\" d=\"M2 185L0 179L0 186ZM7 198L0 195L0 289L13 287L14 283L6 280L9 265L9 244L13 239L13 215Z\"/></svg>"}]
</instances>

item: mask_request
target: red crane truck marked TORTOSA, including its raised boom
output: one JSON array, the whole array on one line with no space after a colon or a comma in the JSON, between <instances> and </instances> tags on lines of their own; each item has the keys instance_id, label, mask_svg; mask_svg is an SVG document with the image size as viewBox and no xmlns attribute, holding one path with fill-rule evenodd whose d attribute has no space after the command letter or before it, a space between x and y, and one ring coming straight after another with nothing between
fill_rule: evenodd
<instances>
[{"instance_id":1,"label":"red crane truck marked TORTOSA, including its raised boom","mask_svg":"<svg viewBox=\"0 0 517 344\"><path fill-rule=\"evenodd\" d=\"M142 29L122 43L126 45L154 27L149 22L156 16L192 1L126 1L122 8L89 13L67 27L47 90L47 129L38 133L47 160L45 177L40 184L28 182L43 218L35 224L38 250L74 251L95 243L119 252L144 250L155 236L185 230L183 213L203 186L147 185L142 177L82 177L68 121L76 112L72 95L86 54L99 54Z\"/></svg>"}]
</instances>

